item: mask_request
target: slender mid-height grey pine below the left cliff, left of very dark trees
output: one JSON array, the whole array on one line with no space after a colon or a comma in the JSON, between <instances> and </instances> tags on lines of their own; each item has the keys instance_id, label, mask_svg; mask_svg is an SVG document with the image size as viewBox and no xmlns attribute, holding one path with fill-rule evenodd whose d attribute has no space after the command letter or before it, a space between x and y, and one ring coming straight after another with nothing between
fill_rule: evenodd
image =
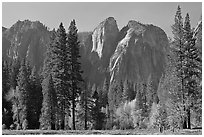
<instances>
[{"instance_id":1,"label":"slender mid-height grey pine below the left cliff, left of very dark trees","mask_svg":"<svg viewBox=\"0 0 204 137\"><path fill-rule=\"evenodd\" d=\"M28 107L29 107L29 75L26 68L25 59L21 62L21 67L18 74L18 88L19 88L19 107L20 107L20 125L28 120ZM29 123L28 123L29 124Z\"/></svg>"}]
</instances>

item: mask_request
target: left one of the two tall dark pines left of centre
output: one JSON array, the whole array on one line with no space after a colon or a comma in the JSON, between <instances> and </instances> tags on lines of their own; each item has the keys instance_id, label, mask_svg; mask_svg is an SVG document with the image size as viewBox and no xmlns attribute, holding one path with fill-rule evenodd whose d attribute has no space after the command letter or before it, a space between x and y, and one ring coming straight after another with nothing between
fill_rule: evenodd
<instances>
[{"instance_id":1,"label":"left one of the two tall dark pines left of centre","mask_svg":"<svg viewBox=\"0 0 204 137\"><path fill-rule=\"evenodd\" d=\"M67 34L61 23L56 34L51 52L52 78L57 93L59 106L59 128L65 128L65 117L69 114L70 97L70 53L68 52Z\"/></svg>"}]
</instances>

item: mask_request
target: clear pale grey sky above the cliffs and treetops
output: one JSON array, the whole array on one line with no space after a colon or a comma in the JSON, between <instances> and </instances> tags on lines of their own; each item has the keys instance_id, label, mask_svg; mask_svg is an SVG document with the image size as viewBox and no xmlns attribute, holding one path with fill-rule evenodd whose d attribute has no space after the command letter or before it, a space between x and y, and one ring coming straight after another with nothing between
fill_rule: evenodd
<instances>
[{"instance_id":1,"label":"clear pale grey sky above the cliffs and treetops","mask_svg":"<svg viewBox=\"0 0 204 137\"><path fill-rule=\"evenodd\" d=\"M202 14L201 2L50 2L50 3L2 3L2 25L11 27L17 20L39 20L50 29L57 28L63 22L67 29L72 19L76 20L79 31L92 31L107 17L114 17L119 29L129 20L154 24L161 27L168 36L172 36L171 25L177 6L181 6L183 18L190 14L191 25L195 27Z\"/></svg>"}]
</instances>

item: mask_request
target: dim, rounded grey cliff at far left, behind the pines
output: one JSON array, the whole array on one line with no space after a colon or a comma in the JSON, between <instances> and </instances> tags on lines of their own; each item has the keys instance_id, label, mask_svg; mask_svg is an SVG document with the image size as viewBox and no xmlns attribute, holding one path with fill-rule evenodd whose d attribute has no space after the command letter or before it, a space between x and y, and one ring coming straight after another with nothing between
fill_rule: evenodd
<instances>
[{"instance_id":1,"label":"dim, rounded grey cliff at far left, behind the pines","mask_svg":"<svg viewBox=\"0 0 204 137\"><path fill-rule=\"evenodd\" d=\"M3 57L26 58L38 70L43 66L49 35L47 28L38 21L18 21L3 32Z\"/></svg>"}]
</instances>

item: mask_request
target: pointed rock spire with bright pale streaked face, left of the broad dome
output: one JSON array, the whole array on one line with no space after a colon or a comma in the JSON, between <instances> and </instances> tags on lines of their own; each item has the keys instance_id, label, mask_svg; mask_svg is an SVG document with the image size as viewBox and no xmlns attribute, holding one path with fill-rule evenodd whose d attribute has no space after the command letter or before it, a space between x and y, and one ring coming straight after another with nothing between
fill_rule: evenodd
<instances>
[{"instance_id":1,"label":"pointed rock spire with bright pale streaked face, left of the broad dome","mask_svg":"<svg viewBox=\"0 0 204 137\"><path fill-rule=\"evenodd\" d=\"M101 22L85 42L82 68L90 83L99 85L108 76L109 60L116 48L118 26L113 17Z\"/></svg>"}]
</instances>

